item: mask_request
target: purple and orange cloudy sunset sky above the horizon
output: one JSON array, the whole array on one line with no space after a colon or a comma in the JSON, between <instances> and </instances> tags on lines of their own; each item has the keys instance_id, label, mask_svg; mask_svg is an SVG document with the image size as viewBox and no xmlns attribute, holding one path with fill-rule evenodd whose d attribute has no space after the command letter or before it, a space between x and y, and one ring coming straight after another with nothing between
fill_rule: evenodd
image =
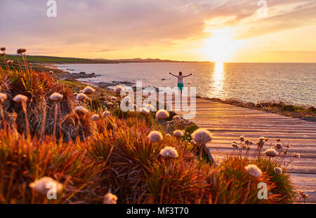
<instances>
[{"instance_id":1,"label":"purple and orange cloudy sunset sky above the horizon","mask_svg":"<svg viewBox=\"0 0 316 218\"><path fill-rule=\"evenodd\" d=\"M216 62L316 62L316 0L0 0L8 53Z\"/></svg>"}]
</instances>

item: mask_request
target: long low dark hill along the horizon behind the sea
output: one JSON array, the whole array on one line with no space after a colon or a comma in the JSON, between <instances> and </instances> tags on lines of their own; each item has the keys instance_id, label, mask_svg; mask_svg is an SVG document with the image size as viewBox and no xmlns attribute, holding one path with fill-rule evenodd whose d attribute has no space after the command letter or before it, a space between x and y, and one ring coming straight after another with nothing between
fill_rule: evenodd
<instances>
[{"instance_id":1,"label":"long low dark hill along the horizon behind the sea","mask_svg":"<svg viewBox=\"0 0 316 218\"><path fill-rule=\"evenodd\" d=\"M8 60L22 62L20 55L7 55ZM111 64L111 63L127 63L127 62L183 62L174 60L161 60L161 59L118 59L118 60L107 60L107 59L86 59L77 57L52 57L52 56L40 56L40 55L26 55L27 61L31 63L39 64Z\"/></svg>"}]
</instances>

